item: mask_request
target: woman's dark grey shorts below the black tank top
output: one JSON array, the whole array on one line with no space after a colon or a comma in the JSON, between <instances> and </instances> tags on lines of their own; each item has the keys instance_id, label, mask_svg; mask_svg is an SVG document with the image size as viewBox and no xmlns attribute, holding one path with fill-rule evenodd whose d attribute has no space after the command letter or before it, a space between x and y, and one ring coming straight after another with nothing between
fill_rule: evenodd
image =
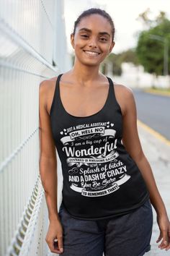
<instances>
[{"instance_id":1,"label":"woman's dark grey shorts below the black tank top","mask_svg":"<svg viewBox=\"0 0 170 256\"><path fill-rule=\"evenodd\" d=\"M150 200L132 213L99 221L72 218L61 204L63 256L142 256L151 249Z\"/></svg>"}]
</instances>

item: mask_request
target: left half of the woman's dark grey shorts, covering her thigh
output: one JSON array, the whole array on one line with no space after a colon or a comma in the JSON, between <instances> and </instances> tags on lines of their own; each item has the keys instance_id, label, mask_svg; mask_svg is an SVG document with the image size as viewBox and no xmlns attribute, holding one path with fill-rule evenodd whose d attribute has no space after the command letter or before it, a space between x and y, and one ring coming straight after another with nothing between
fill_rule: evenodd
<instances>
[{"instance_id":1,"label":"left half of the woman's dark grey shorts, covering her thigh","mask_svg":"<svg viewBox=\"0 0 170 256\"><path fill-rule=\"evenodd\" d=\"M97 221L72 218L63 208L59 210L63 226L63 256L102 256L104 251L104 231Z\"/></svg>"}]
</instances>

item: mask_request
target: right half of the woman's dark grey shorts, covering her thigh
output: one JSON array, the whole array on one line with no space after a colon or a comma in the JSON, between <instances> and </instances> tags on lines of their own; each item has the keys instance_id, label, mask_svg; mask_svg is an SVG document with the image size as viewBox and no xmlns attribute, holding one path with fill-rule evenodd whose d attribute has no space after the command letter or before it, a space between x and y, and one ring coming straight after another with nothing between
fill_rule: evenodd
<instances>
[{"instance_id":1,"label":"right half of the woman's dark grey shorts, covering her thigh","mask_svg":"<svg viewBox=\"0 0 170 256\"><path fill-rule=\"evenodd\" d=\"M106 256L142 256L151 249L153 212L150 200L125 216L112 218L105 235Z\"/></svg>"}]
</instances>

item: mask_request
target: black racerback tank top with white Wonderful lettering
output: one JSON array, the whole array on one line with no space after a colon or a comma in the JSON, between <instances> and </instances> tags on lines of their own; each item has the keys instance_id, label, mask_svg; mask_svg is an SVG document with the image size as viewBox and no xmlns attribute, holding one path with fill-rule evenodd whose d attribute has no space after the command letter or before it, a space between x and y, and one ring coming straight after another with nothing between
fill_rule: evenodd
<instances>
[{"instance_id":1,"label":"black racerback tank top with white Wonderful lettering","mask_svg":"<svg viewBox=\"0 0 170 256\"><path fill-rule=\"evenodd\" d=\"M73 116L63 107L59 81L50 108L50 124L63 172L63 207L74 218L120 216L149 198L146 183L122 145L122 112L112 80L102 109Z\"/></svg>"}]
</instances>

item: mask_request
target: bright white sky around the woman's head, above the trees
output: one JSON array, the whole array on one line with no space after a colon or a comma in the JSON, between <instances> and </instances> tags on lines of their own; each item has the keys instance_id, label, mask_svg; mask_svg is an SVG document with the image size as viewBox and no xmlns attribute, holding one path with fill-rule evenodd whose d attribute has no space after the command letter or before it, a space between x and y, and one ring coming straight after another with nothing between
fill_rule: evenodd
<instances>
[{"instance_id":1,"label":"bright white sky around the woman's head, above the trees","mask_svg":"<svg viewBox=\"0 0 170 256\"><path fill-rule=\"evenodd\" d=\"M115 23L115 47L112 52L118 54L136 46L138 33L143 30L138 15L150 8L149 17L154 18L159 11L166 12L170 19L169 0L64 0L64 17L68 51L71 52L70 34L73 23L85 9L102 8L110 14Z\"/></svg>"}]
</instances>

